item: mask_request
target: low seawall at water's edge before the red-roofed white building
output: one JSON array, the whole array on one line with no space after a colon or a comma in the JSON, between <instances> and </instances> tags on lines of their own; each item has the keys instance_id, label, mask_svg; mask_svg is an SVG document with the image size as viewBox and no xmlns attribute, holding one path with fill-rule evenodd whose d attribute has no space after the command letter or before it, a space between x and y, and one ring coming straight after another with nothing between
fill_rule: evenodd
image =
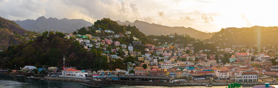
<instances>
[{"instance_id":1,"label":"low seawall at water's edge before the red-roofed white building","mask_svg":"<svg viewBox=\"0 0 278 88\"><path fill-rule=\"evenodd\" d=\"M88 82L90 80L82 78L70 78L70 77L56 77L56 76L44 76L44 79L48 80L60 80L60 81L74 81L74 82Z\"/></svg>"}]
</instances>

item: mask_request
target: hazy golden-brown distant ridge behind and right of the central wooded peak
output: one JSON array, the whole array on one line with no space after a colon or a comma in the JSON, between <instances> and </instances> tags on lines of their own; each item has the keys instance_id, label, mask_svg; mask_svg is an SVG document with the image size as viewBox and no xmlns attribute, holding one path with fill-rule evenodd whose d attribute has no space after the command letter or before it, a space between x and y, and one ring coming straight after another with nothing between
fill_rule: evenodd
<instances>
[{"instance_id":1,"label":"hazy golden-brown distant ridge behind and right of the central wooded peak","mask_svg":"<svg viewBox=\"0 0 278 88\"><path fill-rule=\"evenodd\" d=\"M145 35L170 35L173 33L179 33L179 34L187 34L195 39L209 39L214 33L204 33L201 31L198 31L196 29L192 29L190 27L169 27L169 26L163 26L158 24L150 24L144 21L134 21L129 22L120 22L116 21L120 25L131 25L136 26L142 33Z\"/></svg>"}]
</instances>

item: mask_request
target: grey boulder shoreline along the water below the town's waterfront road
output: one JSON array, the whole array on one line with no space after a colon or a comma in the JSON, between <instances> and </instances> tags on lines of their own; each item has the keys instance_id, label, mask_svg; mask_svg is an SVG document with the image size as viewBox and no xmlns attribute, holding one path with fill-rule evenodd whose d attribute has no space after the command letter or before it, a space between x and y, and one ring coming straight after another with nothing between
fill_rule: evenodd
<instances>
[{"instance_id":1,"label":"grey boulder shoreline along the water below the town's waterfront road","mask_svg":"<svg viewBox=\"0 0 278 88\"><path fill-rule=\"evenodd\" d=\"M130 85L130 86L228 86L231 82L178 82L178 83L169 83L169 82L136 82L136 81L123 81L123 80L103 80L103 81L89 81L85 82L91 86L103 86L103 85ZM243 85L264 85L266 82L239 82ZM267 82L272 85L278 84L278 81Z\"/></svg>"}]
</instances>

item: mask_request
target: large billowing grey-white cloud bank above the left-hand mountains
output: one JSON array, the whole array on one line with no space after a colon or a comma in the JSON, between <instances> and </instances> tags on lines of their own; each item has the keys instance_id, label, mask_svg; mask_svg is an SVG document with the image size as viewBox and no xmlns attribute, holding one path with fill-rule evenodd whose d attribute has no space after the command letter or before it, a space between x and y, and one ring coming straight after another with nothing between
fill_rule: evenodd
<instances>
[{"instance_id":1,"label":"large billowing grey-white cloud bank above the left-hand mountains","mask_svg":"<svg viewBox=\"0 0 278 88\"><path fill-rule=\"evenodd\" d=\"M1 2L0 16L11 20L36 19L40 16L58 19L85 19L94 22L103 17L134 21L141 18L138 5L117 0L19 0Z\"/></svg>"}]
</instances>

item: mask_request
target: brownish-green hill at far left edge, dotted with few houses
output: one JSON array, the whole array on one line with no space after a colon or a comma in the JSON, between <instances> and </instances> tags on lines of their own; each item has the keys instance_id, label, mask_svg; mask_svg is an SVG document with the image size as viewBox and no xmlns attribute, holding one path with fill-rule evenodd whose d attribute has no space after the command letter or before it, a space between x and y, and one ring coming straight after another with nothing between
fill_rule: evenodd
<instances>
[{"instance_id":1,"label":"brownish-green hill at far left edge, dotted with few houses","mask_svg":"<svg viewBox=\"0 0 278 88\"><path fill-rule=\"evenodd\" d=\"M36 33L21 28L14 21L0 17L0 50L10 45L18 45L28 39L34 39Z\"/></svg>"}]
</instances>

